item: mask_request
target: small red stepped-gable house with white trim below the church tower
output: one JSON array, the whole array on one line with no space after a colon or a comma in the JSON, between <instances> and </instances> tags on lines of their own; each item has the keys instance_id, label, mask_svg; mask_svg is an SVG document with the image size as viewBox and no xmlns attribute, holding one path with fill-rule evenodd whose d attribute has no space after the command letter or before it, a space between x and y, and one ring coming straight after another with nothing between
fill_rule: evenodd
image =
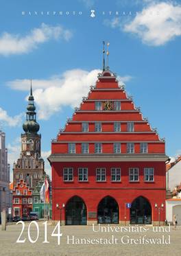
<instances>
[{"instance_id":1,"label":"small red stepped-gable house with white trim below the church tower","mask_svg":"<svg viewBox=\"0 0 181 256\"><path fill-rule=\"evenodd\" d=\"M29 212L32 211L32 189L29 189L23 179L20 179L12 193L14 216L29 215Z\"/></svg>"}]
</instances>

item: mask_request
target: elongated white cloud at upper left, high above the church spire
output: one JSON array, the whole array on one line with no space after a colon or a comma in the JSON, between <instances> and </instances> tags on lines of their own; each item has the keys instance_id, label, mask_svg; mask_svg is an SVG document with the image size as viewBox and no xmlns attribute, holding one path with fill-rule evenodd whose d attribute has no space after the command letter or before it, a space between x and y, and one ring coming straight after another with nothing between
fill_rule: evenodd
<instances>
[{"instance_id":1,"label":"elongated white cloud at upper left, high above the church spire","mask_svg":"<svg viewBox=\"0 0 181 256\"><path fill-rule=\"evenodd\" d=\"M72 36L70 30L65 30L61 25L51 26L42 23L40 27L31 30L27 35L9 34L4 32L0 36L0 54L27 54L36 49L40 43L47 40L59 39L69 40Z\"/></svg>"}]
</instances>

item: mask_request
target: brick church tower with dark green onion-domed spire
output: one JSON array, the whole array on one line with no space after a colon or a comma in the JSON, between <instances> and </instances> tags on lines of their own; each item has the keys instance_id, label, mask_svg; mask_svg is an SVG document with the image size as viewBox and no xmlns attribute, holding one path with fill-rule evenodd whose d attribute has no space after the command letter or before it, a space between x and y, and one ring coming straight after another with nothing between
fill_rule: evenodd
<instances>
[{"instance_id":1,"label":"brick church tower with dark green onion-domed spire","mask_svg":"<svg viewBox=\"0 0 181 256\"><path fill-rule=\"evenodd\" d=\"M38 134L40 126L36 121L35 110L31 83L24 133L21 134L21 154L13 168L14 186L23 179L29 189L34 189L45 174L44 160L41 158L41 135Z\"/></svg>"}]
</instances>

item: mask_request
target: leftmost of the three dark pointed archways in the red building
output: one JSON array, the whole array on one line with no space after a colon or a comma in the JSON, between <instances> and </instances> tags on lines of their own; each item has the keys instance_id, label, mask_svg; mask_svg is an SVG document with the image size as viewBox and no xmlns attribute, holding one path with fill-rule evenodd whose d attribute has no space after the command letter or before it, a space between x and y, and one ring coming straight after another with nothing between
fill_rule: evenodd
<instances>
[{"instance_id":1,"label":"leftmost of the three dark pointed archways in the red building","mask_svg":"<svg viewBox=\"0 0 181 256\"><path fill-rule=\"evenodd\" d=\"M87 210L86 204L79 196L73 196L65 207L66 225L86 225Z\"/></svg>"}]
</instances>

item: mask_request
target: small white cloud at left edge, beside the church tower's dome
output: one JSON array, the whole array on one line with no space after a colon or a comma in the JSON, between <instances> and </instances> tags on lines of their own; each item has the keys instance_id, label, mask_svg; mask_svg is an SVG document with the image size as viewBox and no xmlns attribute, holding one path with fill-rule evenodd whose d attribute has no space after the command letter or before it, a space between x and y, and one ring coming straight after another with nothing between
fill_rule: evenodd
<instances>
[{"instance_id":1,"label":"small white cloud at left edge, beside the church tower's dome","mask_svg":"<svg viewBox=\"0 0 181 256\"><path fill-rule=\"evenodd\" d=\"M15 115L14 117L10 117L8 113L3 110L3 108L0 108L0 124L4 126L20 126L22 123L22 117L23 113L19 115Z\"/></svg>"}]
</instances>

